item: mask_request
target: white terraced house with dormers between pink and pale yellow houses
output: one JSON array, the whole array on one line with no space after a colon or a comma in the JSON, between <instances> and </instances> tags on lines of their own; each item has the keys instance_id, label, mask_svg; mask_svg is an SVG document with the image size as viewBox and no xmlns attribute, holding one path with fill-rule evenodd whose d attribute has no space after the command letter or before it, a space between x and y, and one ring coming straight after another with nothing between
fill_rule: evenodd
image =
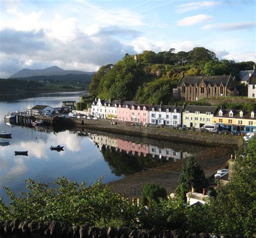
<instances>
[{"instance_id":1,"label":"white terraced house with dormers between pink and pale yellow houses","mask_svg":"<svg viewBox=\"0 0 256 238\"><path fill-rule=\"evenodd\" d=\"M182 106L152 105L149 108L149 123L175 126L182 123Z\"/></svg>"}]
</instances>

